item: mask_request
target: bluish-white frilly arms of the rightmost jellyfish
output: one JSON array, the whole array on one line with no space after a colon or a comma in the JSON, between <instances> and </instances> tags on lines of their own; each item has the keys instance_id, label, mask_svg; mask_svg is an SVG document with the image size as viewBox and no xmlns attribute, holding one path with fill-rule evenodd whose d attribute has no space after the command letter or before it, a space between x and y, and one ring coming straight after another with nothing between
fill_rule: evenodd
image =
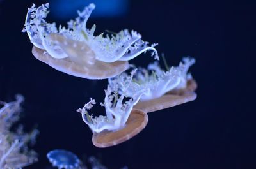
<instances>
[{"instance_id":1,"label":"bluish-white frilly arms of the rightmost jellyfish","mask_svg":"<svg viewBox=\"0 0 256 169\"><path fill-rule=\"evenodd\" d=\"M160 68L158 62L149 64L148 68L139 68L129 87L125 89L125 96L132 97L136 92L145 90L140 97L140 101L147 101L163 96L166 92L173 89L186 88L187 81L192 78L188 73L189 67L195 63L195 59L185 57L183 62L180 62L179 66L173 66L168 71L164 71ZM119 94L122 94L124 86L122 81L127 77L127 73L123 72L114 78L109 78L109 86L111 89L116 88L118 84Z\"/></svg>"}]
</instances>

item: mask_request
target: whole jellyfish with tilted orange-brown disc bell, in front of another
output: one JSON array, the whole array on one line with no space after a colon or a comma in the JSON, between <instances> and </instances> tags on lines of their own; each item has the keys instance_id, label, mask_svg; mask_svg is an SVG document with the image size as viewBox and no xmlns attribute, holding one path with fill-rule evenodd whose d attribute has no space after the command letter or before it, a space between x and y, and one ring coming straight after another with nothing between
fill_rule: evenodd
<instances>
[{"instance_id":1,"label":"whole jellyfish with tilted orange-brown disc bell, in front of another","mask_svg":"<svg viewBox=\"0 0 256 169\"><path fill-rule=\"evenodd\" d=\"M129 87L131 84L133 73L134 71L122 81L124 87ZM145 91L136 92L131 99L124 101L125 89L121 95L118 95L115 89L110 89L108 86L104 103L100 103L105 107L106 116L93 117L88 114L87 110L95 104L92 98L83 108L77 110L81 112L83 121L92 129L92 141L96 147L109 147L125 142L145 128L148 122L147 114L141 110L132 109L143 92Z\"/></svg>"}]
</instances>

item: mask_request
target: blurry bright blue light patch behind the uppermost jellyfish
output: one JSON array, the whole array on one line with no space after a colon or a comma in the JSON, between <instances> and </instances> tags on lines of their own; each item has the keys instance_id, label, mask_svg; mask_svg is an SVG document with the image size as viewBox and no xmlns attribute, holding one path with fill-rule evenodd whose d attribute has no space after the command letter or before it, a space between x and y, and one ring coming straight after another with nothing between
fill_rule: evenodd
<instances>
[{"instance_id":1,"label":"blurry bright blue light patch behind the uppermost jellyfish","mask_svg":"<svg viewBox=\"0 0 256 169\"><path fill-rule=\"evenodd\" d=\"M83 10L90 3L96 5L91 15L93 18L122 17L129 10L129 0L51 0L49 3L50 15L57 20L77 17L77 10Z\"/></svg>"}]
</instances>

